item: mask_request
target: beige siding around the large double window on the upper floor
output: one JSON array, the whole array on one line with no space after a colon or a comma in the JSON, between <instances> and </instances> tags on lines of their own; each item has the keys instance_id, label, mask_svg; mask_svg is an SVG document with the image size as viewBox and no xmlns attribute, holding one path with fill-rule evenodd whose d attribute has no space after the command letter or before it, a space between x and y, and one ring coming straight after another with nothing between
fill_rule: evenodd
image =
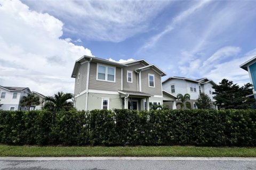
<instances>
[{"instance_id":1,"label":"beige siding around the large double window on the upper floor","mask_svg":"<svg viewBox=\"0 0 256 170\"><path fill-rule=\"evenodd\" d=\"M106 64L103 64L103 65L106 65ZM115 67L115 66L112 66L112 67ZM121 68L116 67L116 82L101 81L101 80L97 80L97 63L91 62L89 89L103 90L103 91L121 90Z\"/></svg>"}]
</instances>

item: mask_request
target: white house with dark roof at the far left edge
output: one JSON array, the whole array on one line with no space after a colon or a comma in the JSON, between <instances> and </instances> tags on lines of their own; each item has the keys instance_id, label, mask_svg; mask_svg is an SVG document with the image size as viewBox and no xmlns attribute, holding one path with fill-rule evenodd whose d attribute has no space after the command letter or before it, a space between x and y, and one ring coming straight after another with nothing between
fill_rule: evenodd
<instances>
[{"instance_id":1,"label":"white house with dark roof at the far left edge","mask_svg":"<svg viewBox=\"0 0 256 170\"><path fill-rule=\"evenodd\" d=\"M28 87L4 87L0 86L1 107L4 111L24 111L26 108L22 107L20 101L23 96L27 96L31 91Z\"/></svg>"}]
</instances>

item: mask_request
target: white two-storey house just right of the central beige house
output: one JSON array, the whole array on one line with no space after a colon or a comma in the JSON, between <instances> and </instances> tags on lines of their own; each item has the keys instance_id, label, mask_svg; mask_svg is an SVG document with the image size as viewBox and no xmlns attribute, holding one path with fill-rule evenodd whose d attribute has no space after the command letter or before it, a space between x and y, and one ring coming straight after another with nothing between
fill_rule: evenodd
<instances>
[{"instance_id":1,"label":"white two-storey house just right of the central beige house","mask_svg":"<svg viewBox=\"0 0 256 170\"><path fill-rule=\"evenodd\" d=\"M189 94L189 102L192 108L197 108L196 99L198 98L200 92L204 92L211 98L212 101L214 101L214 95L212 94L214 89L212 87L213 85L216 85L216 83L207 78L193 80L183 77L170 77L163 81L162 84L163 90L169 92L174 96L177 96L178 94ZM173 105L170 102L166 102L165 104L169 106ZM217 109L217 106L215 105L212 105L212 107Z\"/></svg>"}]
</instances>

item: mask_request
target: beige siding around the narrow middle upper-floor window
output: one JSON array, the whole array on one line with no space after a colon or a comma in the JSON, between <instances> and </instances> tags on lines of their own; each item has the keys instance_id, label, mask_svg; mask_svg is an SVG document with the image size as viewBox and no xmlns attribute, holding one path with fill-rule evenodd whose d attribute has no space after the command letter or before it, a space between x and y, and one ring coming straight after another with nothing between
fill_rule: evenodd
<instances>
[{"instance_id":1,"label":"beige siding around the narrow middle upper-floor window","mask_svg":"<svg viewBox=\"0 0 256 170\"><path fill-rule=\"evenodd\" d=\"M138 73L134 72L134 70L143 66L139 63L123 68L123 90L138 91ZM133 71L132 83L127 82L127 70Z\"/></svg>"}]
</instances>

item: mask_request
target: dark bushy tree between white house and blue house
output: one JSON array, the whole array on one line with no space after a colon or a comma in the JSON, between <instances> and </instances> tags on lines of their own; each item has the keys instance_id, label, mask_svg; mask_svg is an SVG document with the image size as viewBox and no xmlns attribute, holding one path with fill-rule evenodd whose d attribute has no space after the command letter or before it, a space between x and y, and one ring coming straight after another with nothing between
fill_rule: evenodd
<instances>
[{"instance_id":1,"label":"dark bushy tree between white house and blue house","mask_svg":"<svg viewBox=\"0 0 256 170\"><path fill-rule=\"evenodd\" d=\"M215 90L215 104L222 109L247 109L251 108L255 104L254 98L248 98L247 95L252 94L252 84L247 83L244 86L239 87L234 84L233 81L223 79L219 85L215 85L212 88Z\"/></svg>"}]
</instances>

